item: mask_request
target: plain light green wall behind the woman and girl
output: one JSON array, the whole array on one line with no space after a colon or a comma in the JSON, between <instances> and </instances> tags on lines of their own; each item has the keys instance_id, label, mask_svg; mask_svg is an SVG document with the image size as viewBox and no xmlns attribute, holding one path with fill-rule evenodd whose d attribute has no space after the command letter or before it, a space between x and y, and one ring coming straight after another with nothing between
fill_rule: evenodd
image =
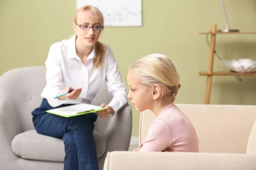
<instances>
[{"instance_id":1,"label":"plain light green wall behind the woman and girl","mask_svg":"<svg viewBox=\"0 0 256 170\"><path fill-rule=\"evenodd\" d=\"M256 0L224 0L231 28L256 31ZM0 74L17 67L44 65L49 46L73 34L75 0L0 0ZM143 0L142 27L105 28L100 41L111 46L122 78L128 65L151 53L173 59L180 74L176 103L204 104L209 47L199 32L212 24L225 28L219 0ZM256 59L256 35L218 35L223 59ZM224 71L215 58L214 70ZM211 104L256 104L255 77L213 77ZM133 136L139 113L133 108Z\"/></svg>"}]
</instances>

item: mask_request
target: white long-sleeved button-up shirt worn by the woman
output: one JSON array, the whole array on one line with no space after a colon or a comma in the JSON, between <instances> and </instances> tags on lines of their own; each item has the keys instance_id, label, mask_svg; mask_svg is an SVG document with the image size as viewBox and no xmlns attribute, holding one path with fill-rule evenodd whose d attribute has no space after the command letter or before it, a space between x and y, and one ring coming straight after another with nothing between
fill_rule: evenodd
<instances>
[{"instance_id":1,"label":"white long-sleeved button-up shirt worn by the woman","mask_svg":"<svg viewBox=\"0 0 256 170\"><path fill-rule=\"evenodd\" d=\"M128 99L125 84L111 48L104 45L104 64L102 67L94 68L95 47L88 55L86 62L82 63L76 53L75 40L76 35L70 40L62 40L51 45L45 62L47 85L41 96L47 99L52 107L62 104L78 104L82 101L90 104L102 84L106 82L109 93L113 95L113 99L108 105L115 112L118 111L127 104ZM67 86L81 88L79 97L75 100L54 99Z\"/></svg>"}]
</instances>

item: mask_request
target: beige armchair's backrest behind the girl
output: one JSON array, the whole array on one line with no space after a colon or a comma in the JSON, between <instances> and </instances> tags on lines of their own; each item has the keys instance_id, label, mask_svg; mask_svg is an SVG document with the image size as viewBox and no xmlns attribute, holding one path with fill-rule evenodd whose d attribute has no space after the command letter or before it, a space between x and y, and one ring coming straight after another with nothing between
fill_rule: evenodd
<instances>
[{"instance_id":1,"label":"beige armchair's backrest behind the girl","mask_svg":"<svg viewBox=\"0 0 256 170\"><path fill-rule=\"evenodd\" d=\"M200 152L246 153L248 138L256 118L256 106L176 105L194 125L199 138ZM149 110L140 113L140 143L145 140L148 127L154 119L155 115ZM255 142L254 146L256 149Z\"/></svg>"}]
</instances>

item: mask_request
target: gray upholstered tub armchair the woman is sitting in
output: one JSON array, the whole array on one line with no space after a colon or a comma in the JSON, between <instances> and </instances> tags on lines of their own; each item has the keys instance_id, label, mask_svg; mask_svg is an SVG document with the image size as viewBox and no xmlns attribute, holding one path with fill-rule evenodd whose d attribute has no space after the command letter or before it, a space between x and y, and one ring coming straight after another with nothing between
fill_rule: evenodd
<instances>
[{"instance_id":1,"label":"gray upholstered tub armchair the woman is sitting in","mask_svg":"<svg viewBox=\"0 0 256 170\"><path fill-rule=\"evenodd\" d=\"M32 124L32 110L38 107L46 85L44 66L17 68L0 77L0 169L63 170L62 139L38 134ZM108 103L112 96L105 85L93 105ZM98 118L94 137L100 170L114 150L128 150L131 139L131 107L126 105L109 119Z\"/></svg>"}]
</instances>

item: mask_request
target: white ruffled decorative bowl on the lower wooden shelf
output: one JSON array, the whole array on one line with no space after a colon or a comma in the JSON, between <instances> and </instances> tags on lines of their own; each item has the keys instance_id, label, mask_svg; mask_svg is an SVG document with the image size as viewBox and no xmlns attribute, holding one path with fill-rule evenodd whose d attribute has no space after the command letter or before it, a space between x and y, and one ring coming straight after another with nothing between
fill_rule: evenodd
<instances>
[{"instance_id":1,"label":"white ruffled decorative bowl on the lower wooden shelf","mask_svg":"<svg viewBox=\"0 0 256 170\"><path fill-rule=\"evenodd\" d=\"M230 71L236 73L255 73L256 61L252 59L232 59L231 61L223 60L222 65L226 66Z\"/></svg>"}]
</instances>

